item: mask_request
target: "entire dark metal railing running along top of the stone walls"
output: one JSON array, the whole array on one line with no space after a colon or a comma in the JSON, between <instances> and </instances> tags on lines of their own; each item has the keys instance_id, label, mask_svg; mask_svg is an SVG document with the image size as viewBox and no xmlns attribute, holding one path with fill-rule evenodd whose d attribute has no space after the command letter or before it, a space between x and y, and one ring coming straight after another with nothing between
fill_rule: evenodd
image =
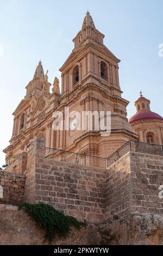
<instances>
[{"instance_id":1,"label":"entire dark metal railing running along top of the stone walls","mask_svg":"<svg viewBox=\"0 0 163 256\"><path fill-rule=\"evenodd\" d=\"M115 151L107 159L97 156L89 156L59 149L45 149L45 158L56 161L63 161L83 166L108 168L129 151L163 156L163 146L143 142L128 141L120 149Z\"/></svg>"}]
</instances>

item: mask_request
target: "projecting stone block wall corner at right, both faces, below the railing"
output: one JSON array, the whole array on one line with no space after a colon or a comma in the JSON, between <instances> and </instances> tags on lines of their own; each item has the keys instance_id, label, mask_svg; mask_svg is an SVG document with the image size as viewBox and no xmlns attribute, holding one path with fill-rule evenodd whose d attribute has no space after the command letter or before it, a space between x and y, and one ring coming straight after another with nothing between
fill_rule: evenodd
<instances>
[{"instance_id":1,"label":"projecting stone block wall corner at right, both faces, below the railing","mask_svg":"<svg viewBox=\"0 0 163 256\"><path fill-rule=\"evenodd\" d=\"M129 152L108 168L105 220L131 215L163 216L163 156Z\"/></svg>"}]
</instances>

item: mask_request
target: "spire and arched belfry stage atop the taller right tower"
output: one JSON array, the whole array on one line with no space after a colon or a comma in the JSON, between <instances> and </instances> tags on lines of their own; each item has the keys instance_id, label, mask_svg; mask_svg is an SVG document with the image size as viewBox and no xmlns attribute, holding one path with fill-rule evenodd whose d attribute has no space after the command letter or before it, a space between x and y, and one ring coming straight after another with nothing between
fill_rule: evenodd
<instances>
[{"instance_id":1,"label":"spire and arched belfry stage atop the taller right tower","mask_svg":"<svg viewBox=\"0 0 163 256\"><path fill-rule=\"evenodd\" d=\"M73 39L74 49L60 69L62 94L66 95L89 81L100 83L111 94L121 95L118 78L120 60L106 48L103 39L104 35L96 29L87 12L82 30Z\"/></svg>"}]
</instances>

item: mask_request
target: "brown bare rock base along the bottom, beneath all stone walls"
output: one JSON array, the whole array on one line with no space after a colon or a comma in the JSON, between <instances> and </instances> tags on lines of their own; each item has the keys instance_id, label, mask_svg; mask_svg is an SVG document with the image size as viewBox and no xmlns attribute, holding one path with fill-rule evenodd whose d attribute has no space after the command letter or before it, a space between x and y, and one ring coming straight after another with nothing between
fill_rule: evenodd
<instances>
[{"instance_id":1,"label":"brown bare rock base along the bottom, beneath all stone walls","mask_svg":"<svg viewBox=\"0 0 163 256\"><path fill-rule=\"evenodd\" d=\"M0 245L48 245L45 231L17 206L0 204ZM110 224L87 224L71 228L67 237L53 245L163 245L163 218L159 215L133 215Z\"/></svg>"}]
</instances>

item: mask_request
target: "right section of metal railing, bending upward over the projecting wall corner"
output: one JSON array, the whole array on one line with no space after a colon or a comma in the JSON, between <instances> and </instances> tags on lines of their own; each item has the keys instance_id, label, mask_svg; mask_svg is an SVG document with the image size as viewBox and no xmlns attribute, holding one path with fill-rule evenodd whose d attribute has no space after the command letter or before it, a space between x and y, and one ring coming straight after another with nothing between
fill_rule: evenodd
<instances>
[{"instance_id":1,"label":"right section of metal railing, bending upward over the projecting wall corner","mask_svg":"<svg viewBox=\"0 0 163 256\"><path fill-rule=\"evenodd\" d=\"M148 144L143 142L128 141L120 149L115 151L111 156L108 157L107 166L111 166L122 156L126 155L129 151L137 153L146 153L151 155L163 156L163 146L156 144Z\"/></svg>"}]
</instances>

